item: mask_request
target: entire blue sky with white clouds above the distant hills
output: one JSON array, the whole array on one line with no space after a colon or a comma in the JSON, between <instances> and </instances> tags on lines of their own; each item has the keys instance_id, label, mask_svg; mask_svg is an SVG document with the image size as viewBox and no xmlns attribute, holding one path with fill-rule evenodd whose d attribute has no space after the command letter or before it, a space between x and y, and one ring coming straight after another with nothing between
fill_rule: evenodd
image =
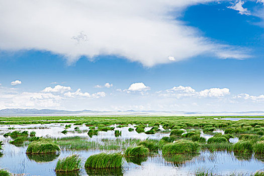
<instances>
[{"instance_id":1,"label":"entire blue sky with white clouds above the distant hills","mask_svg":"<svg viewBox=\"0 0 264 176\"><path fill-rule=\"evenodd\" d=\"M264 1L0 0L0 110L264 111Z\"/></svg>"}]
</instances>

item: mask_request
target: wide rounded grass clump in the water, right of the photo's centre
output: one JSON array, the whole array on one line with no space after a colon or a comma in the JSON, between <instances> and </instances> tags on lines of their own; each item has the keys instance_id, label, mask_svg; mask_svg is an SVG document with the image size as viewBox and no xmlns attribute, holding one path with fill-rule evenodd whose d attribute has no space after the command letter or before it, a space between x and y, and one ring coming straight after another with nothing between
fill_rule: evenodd
<instances>
[{"instance_id":1,"label":"wide rounded grass clump in the water, right of the photo's centre","mask_svg":"<svg viewBox=\"0 0 264 176\"><path fill-rule=\"evenodd\" d=\"M184 154L184 153L196 153L200 149L200 145L197 142L190 140L178 140L174 143L168 143L162 147L162 154Z\"/></svg>"}]
</instances>

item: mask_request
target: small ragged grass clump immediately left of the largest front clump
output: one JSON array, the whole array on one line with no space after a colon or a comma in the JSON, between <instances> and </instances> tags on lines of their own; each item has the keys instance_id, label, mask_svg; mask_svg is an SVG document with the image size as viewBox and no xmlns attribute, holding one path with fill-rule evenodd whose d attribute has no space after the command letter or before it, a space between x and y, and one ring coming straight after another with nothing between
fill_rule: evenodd
<instances>
[{"instance_id":1,"label":"small ragged grass clump immediately left of the largest front clump","mask_svg":"<svg viewBox=\"0 0 264 176\"><path fill-rule=\"evenodd\" d=\"M59 159L55 168L56 172L68 172L79 170L81 168L81 158L79 155L73 154L65 158Z\"/></svg>"}]
</instances>

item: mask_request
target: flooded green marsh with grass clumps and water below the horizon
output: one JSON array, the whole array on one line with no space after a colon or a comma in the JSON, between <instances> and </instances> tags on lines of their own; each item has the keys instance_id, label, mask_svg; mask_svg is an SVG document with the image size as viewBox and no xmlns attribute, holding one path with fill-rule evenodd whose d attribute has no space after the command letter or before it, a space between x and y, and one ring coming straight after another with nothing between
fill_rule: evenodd
<instances>
[{"instance_id":1,"label":"flooded green marsh with grass clumps and water below the horizon","mask_svg":"<svg viewBox=\"0 0 264 176\"><path fill-rule=\"evenodd\" d=\"M0 175L264 175L262 117L0 117Z\"/></svg>"}]
</instances>

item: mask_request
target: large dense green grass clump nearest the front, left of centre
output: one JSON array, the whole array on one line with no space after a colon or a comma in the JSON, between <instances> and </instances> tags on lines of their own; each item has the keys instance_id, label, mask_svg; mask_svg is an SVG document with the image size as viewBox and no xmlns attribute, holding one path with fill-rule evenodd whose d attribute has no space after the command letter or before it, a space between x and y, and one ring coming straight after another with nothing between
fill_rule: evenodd
<instances>
[{"instance_id":1,"label":"large dense green grass clump nearest the front, left of centre","mask_svg":"<svg viewBox=\"0 0 264 176\"><path fill-rule=\"evenodd\" d=\"M120 153L99 153L87 158L85 168L120 168L123 156Z\"/></svg>"}]
</instances>

